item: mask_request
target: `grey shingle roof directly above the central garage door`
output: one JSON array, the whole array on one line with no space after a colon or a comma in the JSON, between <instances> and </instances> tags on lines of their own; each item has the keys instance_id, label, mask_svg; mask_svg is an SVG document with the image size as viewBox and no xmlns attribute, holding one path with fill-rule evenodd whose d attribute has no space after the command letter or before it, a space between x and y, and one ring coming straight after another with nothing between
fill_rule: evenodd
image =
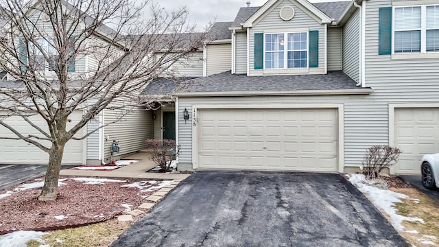
<instances>
[{"instance_id":1,"label":"grey shingle roof directly above the central garage door","mask_svg":"<svg viewBox=\"0 0 439 247\"><path fill-rule=\"evenodd\" d=\"M364 89L342 71L326 75L233 75L230 71L205 78L187 80L175 93L318 91Z\"/></svg>"}]
</instances>

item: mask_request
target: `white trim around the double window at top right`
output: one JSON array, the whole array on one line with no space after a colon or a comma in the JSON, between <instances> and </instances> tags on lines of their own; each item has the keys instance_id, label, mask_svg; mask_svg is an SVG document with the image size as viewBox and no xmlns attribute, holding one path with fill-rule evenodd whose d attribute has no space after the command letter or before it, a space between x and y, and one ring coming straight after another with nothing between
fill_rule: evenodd
<instances>
[{"instance_id":1,"label":"white trim around the double window at top right","mask_svg":"<svg viewBox=\"0 0 439 247\"><path fill-rule=\"evenodd\" d=\"M392 58L398 58L400 54L439 54L439 51L427 51L427 6L438 6L439 4L424 4L424 5L396 5L392 7ZM395 53L395 32L398 31L415 31L414 30L395 30L395 9L396 8L410 8L420 7L420 52L396 52ZM432 30L432 29L429 29ZM401 56L403 58L404 56ZM434 56L436 58L436 56Z\"/></svg>"}]
</instances>

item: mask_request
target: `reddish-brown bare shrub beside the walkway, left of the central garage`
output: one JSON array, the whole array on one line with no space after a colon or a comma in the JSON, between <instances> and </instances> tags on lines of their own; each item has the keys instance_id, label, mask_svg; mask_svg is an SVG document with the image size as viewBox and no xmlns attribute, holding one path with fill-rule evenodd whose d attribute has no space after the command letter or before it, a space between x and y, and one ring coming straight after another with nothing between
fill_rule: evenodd
<instances>
[{"instance_id":1,"label":"reddish-brown bare shrub beside the walkway, left of the central garage","mask_svg":"<svg viewBox=\"0 0 439 247\"><path fill-rule=\"evenodd\" d=\"M154 161L161 167L163 172L171 170L171 161L176 159L180 146L176 145L176 141L170 139L155 140L147 139L146 148L150 151L150 160Z\"/></svg>"}]
</instances>

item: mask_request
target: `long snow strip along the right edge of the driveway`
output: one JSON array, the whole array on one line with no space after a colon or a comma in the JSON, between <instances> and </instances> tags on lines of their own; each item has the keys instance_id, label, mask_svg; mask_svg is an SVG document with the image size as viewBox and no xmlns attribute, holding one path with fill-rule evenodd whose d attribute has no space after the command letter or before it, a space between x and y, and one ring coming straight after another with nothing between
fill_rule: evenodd
<instances>
[{"instance_id":1,"label":"long snow strip along the right edge of the driveway","mask_svg":"<svg viewBox=\"0 0 439 247\"><path fill-rule=\"evenodd\" d=\"M405 217L403 215L399 215L396 213L396 209L394 208L394 204L396 202L402 202L401 199L407 199L408 196L402 193L396 193L394 191L390 191L388 189L378 189L377 187L373 187L370 185L364 184L364 180L366 177L362 174L354 174L350 176L349 181L355 185L359 189L359 191L365 193L372 203L375 204L376 207L379 207L385 213L387 213L392 221L392 225L396 230L403 231L404 227L401 224L404 220L409 222L421 222L424 223L424 220L418 217Z\"/></svg>"}]
</instances>

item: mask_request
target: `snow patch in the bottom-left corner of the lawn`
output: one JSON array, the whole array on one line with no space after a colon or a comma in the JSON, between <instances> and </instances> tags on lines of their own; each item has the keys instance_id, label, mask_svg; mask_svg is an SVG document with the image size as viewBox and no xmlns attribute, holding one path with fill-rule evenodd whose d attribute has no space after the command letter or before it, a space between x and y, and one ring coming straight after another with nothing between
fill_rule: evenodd
<instances>
[{"instance_id":1,"label":"snow patch in the bottom-left corner of the lawn","mask_svg":"<svg viewBox=\"0 0 439 247\"><path fill-rule=\"evenodd\" d=\"M14 233L8 233L6 235L0 236L0 246L1 247L22 247L27 246L27 242L30 240L36 240L41 243L40 247L47 247L48 245L43 245L43 239L41 236L45 235L42 232L36 231L16 231Z\"/></svg>"}]
</instances>

